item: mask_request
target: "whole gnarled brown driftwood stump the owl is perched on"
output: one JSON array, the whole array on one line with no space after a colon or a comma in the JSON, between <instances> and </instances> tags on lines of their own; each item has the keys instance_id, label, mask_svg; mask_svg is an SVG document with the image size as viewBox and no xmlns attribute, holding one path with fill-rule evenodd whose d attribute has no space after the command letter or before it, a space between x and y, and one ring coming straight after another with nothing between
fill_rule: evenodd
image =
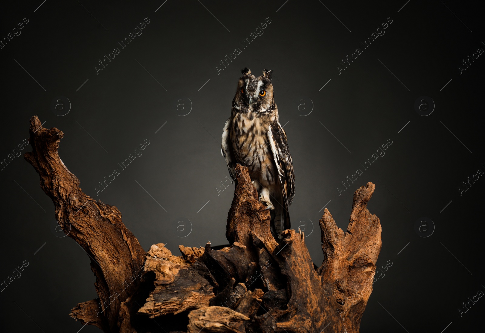
<instances>
[{"instance_id":1,"label":"whole gnarled brown driftwood stump the owl is perched on","mask_svg":"<svg viewBox=\"0 0 485 333\"><path fill-rule=\"evenodd\" d=\"M97 277L99 298L72 310L81 323L110 333L358 332L381 249L379 218L367 210L374 184L355 192L346 233L325 209L317 269L303 233L286 230L275 241L269 211L242 166L227 218L229 247L180 245L175 256L160 243L145 253L116 207L81 192L57 153L64 133L40 124L32 117L33 150L25 158Z\"/></svg>"}]
</instances>

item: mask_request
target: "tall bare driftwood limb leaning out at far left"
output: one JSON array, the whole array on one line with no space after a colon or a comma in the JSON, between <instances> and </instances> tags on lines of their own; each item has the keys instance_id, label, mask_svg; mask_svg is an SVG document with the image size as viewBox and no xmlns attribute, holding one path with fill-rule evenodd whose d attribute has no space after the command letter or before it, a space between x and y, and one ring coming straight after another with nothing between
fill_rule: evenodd
<instances>
[{"instance_id":1,"label":"tall bare driftwood limb leaning out at far left","mask_svg":"<svg viewBox=\"0 0 485 333\"><path fill-rule=\"evenodd\" d=\"M98 299L78 304L71 316L104 332L116 332L117 327L129 325L129 314L122 303L140 284L145 250L123 224L115 206L81 191L79 179L65 167L57 152L63 137L57 128L43 128L39 118L32 117L32 151L26 152L24 158L35 168L40 187L54 202L59 225L91 259Z\"/></svg>"}]
</instances>

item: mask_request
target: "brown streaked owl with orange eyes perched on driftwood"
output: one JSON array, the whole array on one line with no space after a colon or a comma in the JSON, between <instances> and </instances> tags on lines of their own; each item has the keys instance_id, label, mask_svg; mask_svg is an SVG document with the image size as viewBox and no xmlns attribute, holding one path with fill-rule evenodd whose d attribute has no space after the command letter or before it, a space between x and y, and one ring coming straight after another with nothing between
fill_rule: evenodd
<instances>
[{"instance_id":1,"label":"brown streaked owl with orange eyes perched on driftwood","mask_svg":"<svg viewBox=\"0 0 485 333\"><path fill-rule=\"evenodd\" d=\"M264 69L259 77L248 68L242 70L231 117L223 129L221 152L233 180L237 163L248 168L259 200L271 210L271 232L281 239L281 232L290 228L288 207L295 187L286 133L278 121L271 70Z\"/></svg>"}]
</instances>

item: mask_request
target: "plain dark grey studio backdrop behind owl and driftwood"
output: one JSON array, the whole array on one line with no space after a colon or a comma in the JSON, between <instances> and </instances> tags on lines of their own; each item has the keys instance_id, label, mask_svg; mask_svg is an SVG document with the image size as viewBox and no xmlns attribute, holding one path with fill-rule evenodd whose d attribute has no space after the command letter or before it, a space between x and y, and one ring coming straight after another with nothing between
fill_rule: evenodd
<instances>
[{"instance_id":1,"label":"plain dark grey studio backdrop behind owl and driftwood","mask_svg":"<svg viewBox=\"0 0 485 333\"><path fill-rule=\"evenodd\" d=\"M29 119L37 115L45 127L65 133L59 153L83 191L118 207L145 250L159 242L174 254L178 244L225 244L234 185L218 192L228 176L220 136L241 68L258 74L264 64L277 78L275 101L293 157L292 227L306 230L316 264L323 259L322 208L345 230L353 192L376 184L369 210L382 224L377 264L392 266L374 283L361 332L483 328L485 300L462 317L458 311L485 292L485 181L462 196L458 190L485 170L485 54L461 75L458 69L485 48L478 1L82 0L83 8L78 1L47 0L38 8L41 3L1 6L1 38L24 17L30 20L0 50L1 160L28 137ZM143 34L96 74L98 60L145 17ZM267 17L263 35L242 49L240 42ZM341 60L388 17L393 22L385 34L339 74ZM220 60L235 48L241 54L218 74ZM63 117L50 110L58 95L72 104ZM414 108L423 95L436 103L427 117ZM180 117L189 100L192 111ZM339 195L341 182L364 170L360 164L389 138L385 156ZM150 145L143 155L97 196L98 182L145 139ZM82 326L70 309L96 298L88 256L55 230L52 202L23 157L0 177L1 281L29 262L0 293L1 331L78 332ZM415 232L420 217L433 220L431 236ZM88 325L83 332L99 330Z\"/></svg>"}]
</instances>

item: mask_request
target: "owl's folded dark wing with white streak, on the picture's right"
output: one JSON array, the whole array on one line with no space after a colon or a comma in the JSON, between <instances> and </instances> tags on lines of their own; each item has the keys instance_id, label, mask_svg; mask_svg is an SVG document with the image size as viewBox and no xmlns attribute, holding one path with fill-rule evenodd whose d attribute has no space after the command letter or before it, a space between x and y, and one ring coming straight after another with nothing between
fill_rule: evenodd
<instances>
[{"instance_id":1,"label":"owl's folded dark wing with white streak, on the picture's right","mask_svg":"<svg viewBox=\"0 0 485 333\"><path fill-rule=\"evenodd\" d=\"M288 206L293 201L295 195L295 176L293 173L293 161L291 160L290 150L286 133L279 121L274 121L268 131L268 141L271 151L278 168L278 176L283 189L283 197Z\"/></svg>"}]
</instances>

